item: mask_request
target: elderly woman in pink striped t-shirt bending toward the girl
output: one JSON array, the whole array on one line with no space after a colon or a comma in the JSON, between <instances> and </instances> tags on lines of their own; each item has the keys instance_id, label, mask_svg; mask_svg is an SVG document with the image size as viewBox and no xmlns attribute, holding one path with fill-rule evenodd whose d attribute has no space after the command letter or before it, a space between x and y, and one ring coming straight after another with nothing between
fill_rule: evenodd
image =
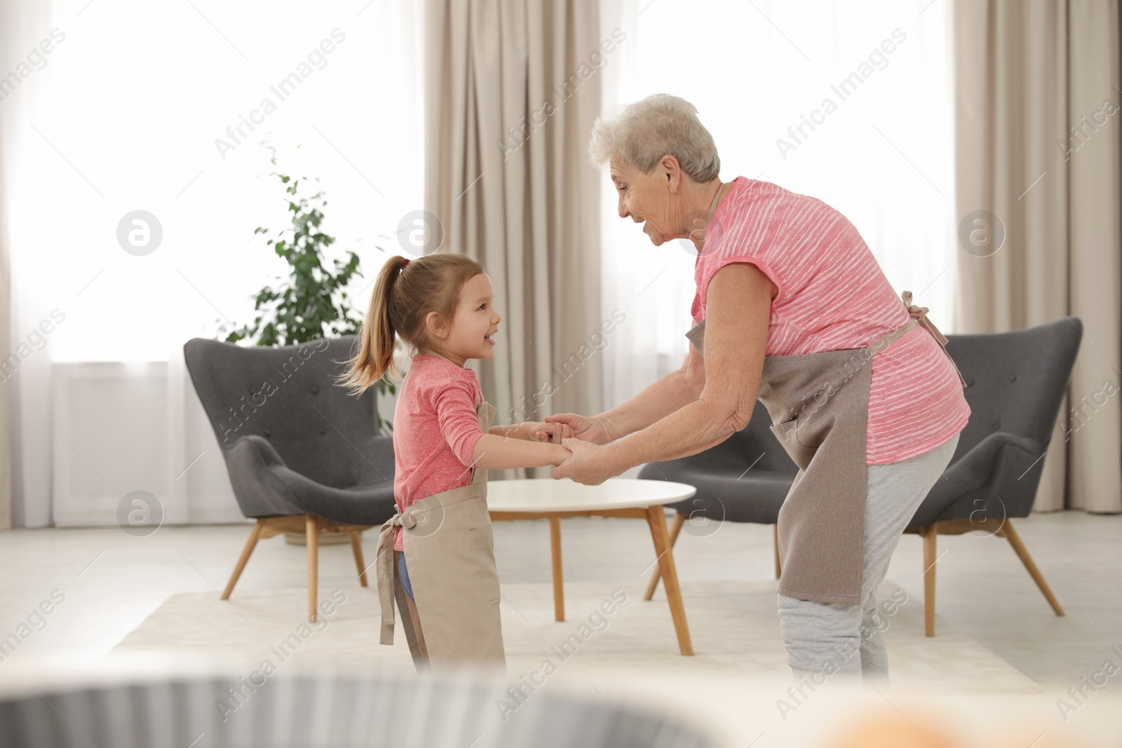
<instances>
[{"instance_id":1,"label":"elderly woman in pink striped t-shirt bending toward the girl","mask_svg":"<svg viewBox=\"0 0 1122 748\"><path fill-rule=\"evenodd\" d=\"M681 369L597 416L571 413L554 478L598 484L697 454L758 398L798 464L779 515L779 616L795 680L888 677L874 591L969 417L946 339L903 301L848 220L807 195L723 182L697 109L657 94L592 128L619 216L698 249ZM708 323L712 323L709 329Z\"/></svg>"}]
</instances>

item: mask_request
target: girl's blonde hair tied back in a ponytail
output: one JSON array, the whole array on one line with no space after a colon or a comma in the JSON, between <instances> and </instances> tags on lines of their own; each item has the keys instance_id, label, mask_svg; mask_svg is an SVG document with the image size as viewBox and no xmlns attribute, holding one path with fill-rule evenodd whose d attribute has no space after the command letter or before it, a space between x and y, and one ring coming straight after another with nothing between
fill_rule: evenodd
<instances>
[{"instance_id":1,"label":"girl's blonde hair tied back in a ponytail","mask_svg":"<svg viewBox=\"0 0 1122 748\"><path fill-rule=\"evenodd\" d=\"M351 394L377 384L387 372L394 379L395 335L414 348L429 344L425 317L436 312L451 322L460 290L484 267L467 255L450 252L408 260L395 255L386 260L374 284L370 308L358 333L358 351L338 382Z\"/></svg>"}]
</instances>

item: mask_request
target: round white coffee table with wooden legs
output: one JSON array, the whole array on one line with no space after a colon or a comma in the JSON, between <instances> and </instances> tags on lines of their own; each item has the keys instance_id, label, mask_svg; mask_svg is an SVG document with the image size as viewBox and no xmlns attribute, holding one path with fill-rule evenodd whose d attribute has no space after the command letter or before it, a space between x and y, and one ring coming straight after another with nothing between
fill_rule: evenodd
<instances>
[{"instance_id":1,"label":"round white coffee table with wooden legs","mask_svg":"<svg viewBox=\"0 0 1122 748\"><path fill-rule=\"evenodd\" d=\"M666 585L670 615L678 634L678 648L683 655L693 654L690 630L686 625L686 608L678 585L678 571L671 553L670 535L662 505L688 499L697 489L686 483L663 480L609 478L599 486L582 486L568 478L553 480L497 480L487 482L487 508L493 520L550 520L553 546L553 613L564 620L564 589L561 578L561 517L633 517L645 519L651 527L654 553Z\"/></svg>"}]
</instances>

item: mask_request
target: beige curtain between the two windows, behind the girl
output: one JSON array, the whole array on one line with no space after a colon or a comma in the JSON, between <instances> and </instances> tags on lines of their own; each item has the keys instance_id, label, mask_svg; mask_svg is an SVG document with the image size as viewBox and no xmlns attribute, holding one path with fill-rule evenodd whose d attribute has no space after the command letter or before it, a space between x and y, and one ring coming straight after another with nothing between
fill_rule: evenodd
<instances>
[{"instance_id":1,"label":"beige curtain between the two windows, behind the girl","mask_svg":"<svg viewBox=\"0 0 1122 748\"><path fill-rule=\"evenodd\" d=\"M425 7L425 210L494 284L503 333L472 366L498 423L600 405L600 44L594 0Z\"/></svg>"}]
</instances>

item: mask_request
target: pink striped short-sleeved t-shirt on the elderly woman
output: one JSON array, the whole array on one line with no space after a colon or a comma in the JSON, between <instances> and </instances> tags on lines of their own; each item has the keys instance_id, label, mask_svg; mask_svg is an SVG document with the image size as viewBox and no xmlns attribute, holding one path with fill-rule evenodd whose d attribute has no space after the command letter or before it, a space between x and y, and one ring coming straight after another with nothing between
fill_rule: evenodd
<instances>
[{"instance_id":1,"label":"pink striped short-sleeved t-shirt on the elderly woman","mask_svg":"<svg viewBox=\"0 0 1122 748\"><path fill-rule=\"evenodd\" d=\"M770 182L737 177L733 185L695 265L696 323L705 318L709 280L729 262L755 265L779 289L766 355L863 348L908 323L900 295L844 215ZM873 357L865 463L927 452L960 432L969 415L954 364L917 325Z\"/></svg>"}]
</instances>

